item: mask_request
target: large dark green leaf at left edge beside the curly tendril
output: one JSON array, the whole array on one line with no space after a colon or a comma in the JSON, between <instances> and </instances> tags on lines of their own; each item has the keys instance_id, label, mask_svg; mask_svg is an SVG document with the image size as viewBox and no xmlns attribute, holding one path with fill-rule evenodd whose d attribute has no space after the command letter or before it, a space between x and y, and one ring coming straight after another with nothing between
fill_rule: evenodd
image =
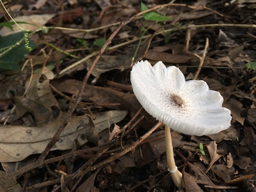
<instances>
[{"instance_id":1,"label":"large dark green leaf at left edge beside the curly tendril","mask_svg":"<svg viewBox=\"0 0 256 192\"><path fill-rule=\"evenodd\" d=\"M25 41L16 45L21 39L24 38L23 31L5 37L0 36L0 53L6 50L6 47L13 47L0 57L0 69L5 70L19 70L19 62L25 59L30 51L25 48ZM31 50L35 49L36 44L29 40L28 46Z\"/></svg>"}]
</instances>

